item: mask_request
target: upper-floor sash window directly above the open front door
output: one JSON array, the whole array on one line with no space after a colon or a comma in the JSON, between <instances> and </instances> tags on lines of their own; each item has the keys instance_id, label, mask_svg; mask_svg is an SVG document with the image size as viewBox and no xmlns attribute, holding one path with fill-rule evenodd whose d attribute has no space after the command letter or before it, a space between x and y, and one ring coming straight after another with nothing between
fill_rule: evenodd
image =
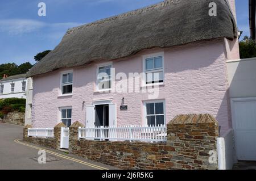
<instances>
[{"instance_id":1,"label":"upper-floor sash window directly above the open front door","mask_svg":"<svg viewBox=\"0 0 256 181\"><path fill-rule=\"evenodd\" d=\"M97 88L98 90L108 90L112 88L112 65L98 66L97 68Z\"/></svg>"}]
</instances>

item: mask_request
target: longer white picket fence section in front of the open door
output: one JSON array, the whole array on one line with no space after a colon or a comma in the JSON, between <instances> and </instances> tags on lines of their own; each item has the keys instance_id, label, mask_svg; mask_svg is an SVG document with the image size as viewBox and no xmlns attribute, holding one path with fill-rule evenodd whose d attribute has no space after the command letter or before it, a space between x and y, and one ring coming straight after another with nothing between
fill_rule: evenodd
<instances>
[{"instance_id":1,"label":"longer white picket fence section in front of the open door","mask_svg":"<svg viewBox=\"0 0 256 181\"><path fill-rule=\"evenodd\" d=\"M166 142L166 127L143 127L141 125L129 125L121 127L79 127L79 139L109 140L109 141L144 141Z\"/></svg>"}]
</instances>

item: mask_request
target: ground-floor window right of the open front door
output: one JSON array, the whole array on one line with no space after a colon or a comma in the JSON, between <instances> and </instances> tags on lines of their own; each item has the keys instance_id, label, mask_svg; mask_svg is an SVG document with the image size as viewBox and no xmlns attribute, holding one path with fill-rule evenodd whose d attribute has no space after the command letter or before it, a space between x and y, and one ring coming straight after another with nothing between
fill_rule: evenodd
<instances>
[{"instance_id":1,"label":"ground-floor window right of the open front door","mask_svg":"<svg viewBox=\"0 0 256 181\"><path fill-rule=\"evenodd\" d=\"M165 125L164 104L164 100L144 103L147 125Z\"/></svg>"}]
</instances>

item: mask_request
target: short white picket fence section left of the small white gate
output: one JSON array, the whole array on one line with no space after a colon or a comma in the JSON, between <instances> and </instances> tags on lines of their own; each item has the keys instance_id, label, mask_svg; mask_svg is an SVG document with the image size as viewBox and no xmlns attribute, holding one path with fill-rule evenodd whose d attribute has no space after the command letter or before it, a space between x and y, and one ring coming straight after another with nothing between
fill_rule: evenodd
<instances>
[{"instance_id":1,"label":"short white picket fence section left of the small white gate","mask_svg":"<svg viewBox=\"0 0 256 181\"><path fill-rule=\"evenodd\" d=\"M53 128L28 128L28 136L51 138L54 137Z\"/></svg>"}]
</instances>

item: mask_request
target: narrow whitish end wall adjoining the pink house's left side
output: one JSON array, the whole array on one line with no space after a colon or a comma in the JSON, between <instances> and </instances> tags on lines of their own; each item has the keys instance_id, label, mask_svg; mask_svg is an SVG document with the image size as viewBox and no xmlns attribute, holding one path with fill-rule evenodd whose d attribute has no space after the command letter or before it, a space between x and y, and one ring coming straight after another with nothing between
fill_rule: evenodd
<instances>
[{"instance_id":1,"label":"narrow whitish end wall adjoining the pink house's left side","mask_svg":"<svg viewBox=\"0 0 256 181\"><path fill-rule=\"evenodd\" d=\"M33 79L27 78L27 100L26 100L26 114L25 114L25 125L31 125L31 106L33 96Z\"/></svg>"}]
</instances>

